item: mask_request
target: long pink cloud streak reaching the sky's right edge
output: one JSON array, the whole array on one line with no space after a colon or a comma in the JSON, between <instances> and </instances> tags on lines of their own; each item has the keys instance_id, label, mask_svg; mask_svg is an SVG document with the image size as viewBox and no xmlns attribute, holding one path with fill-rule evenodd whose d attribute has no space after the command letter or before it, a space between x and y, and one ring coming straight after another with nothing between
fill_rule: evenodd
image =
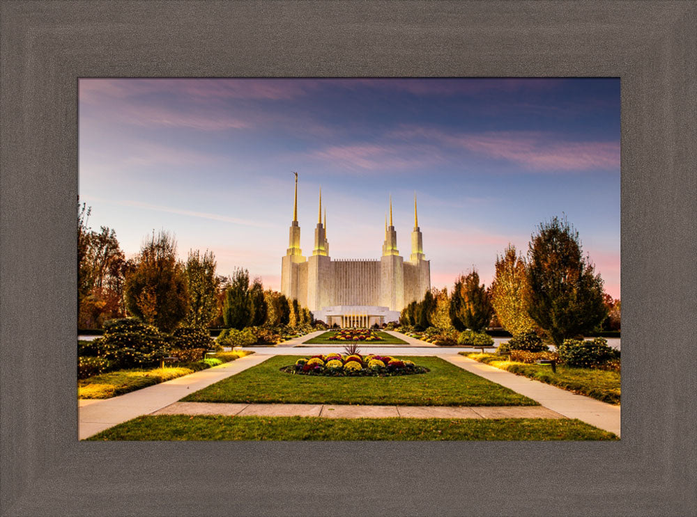
<instances>
[{"instance_id":1,"label":"long pink cloud streak reaching the sky's right edge","mask_svg":"<svg viewBox=\"0 0 697 517\"><path fill-rule=\"evenodd\" d=\"M559 142L543 132L484 132L447 134L438 129L410 127L390 133L392 138L426 138L495 159L513 161L541 171L618 169L619 142Z\"/></svg>"}]
</instances>

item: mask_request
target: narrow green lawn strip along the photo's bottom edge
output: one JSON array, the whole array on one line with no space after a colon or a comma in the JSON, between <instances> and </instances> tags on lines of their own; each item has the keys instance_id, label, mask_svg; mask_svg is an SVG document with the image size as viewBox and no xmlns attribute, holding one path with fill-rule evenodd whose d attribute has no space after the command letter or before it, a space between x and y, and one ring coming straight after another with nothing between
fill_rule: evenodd
<instances>
[{"instance_id":1,"label":"narrow green lawn strip along the photo's bottom edge","mask_svg":"<svg viewBox=\"0 0 697 517\"><path fill-rule=\"evenodd\" d=\"M141 416L88 440L616 440L581 420Z\"/></svg>"}]
</instances>

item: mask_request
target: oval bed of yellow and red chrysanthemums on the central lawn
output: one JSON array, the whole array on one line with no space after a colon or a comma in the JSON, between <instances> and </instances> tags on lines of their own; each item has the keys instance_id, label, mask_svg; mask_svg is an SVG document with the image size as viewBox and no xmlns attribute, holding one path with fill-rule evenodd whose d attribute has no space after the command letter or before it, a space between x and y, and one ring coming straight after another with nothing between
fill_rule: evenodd
<instances>
[{"instance_id":1,"label":"oval bed of yellow and red chrysanthemums on the central lawn","mask_svg":"<svg viewBox=\"0 0 697 517\"><path fill-rule=\"evenodd\" d=\"M361 356L360 353L342 356L339 353L328 353L325 356L298 359L296 364L284 366L281 371L299 375L369 377L425 374L429 369L392 356Z\"/></svg>"}]
</instances>

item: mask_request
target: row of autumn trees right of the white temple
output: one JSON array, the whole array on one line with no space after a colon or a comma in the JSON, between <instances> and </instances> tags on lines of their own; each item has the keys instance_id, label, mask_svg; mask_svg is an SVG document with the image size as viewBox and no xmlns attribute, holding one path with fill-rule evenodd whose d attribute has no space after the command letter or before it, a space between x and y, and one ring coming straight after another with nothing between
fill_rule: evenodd
<instances>
[{"instance_id":1,"label":"row of autumn trees right of the white temple","mask_svg":"<svg viewBox=\"0 0 697 517\"><path fill-rule=\"evenodd\" d=\"M514 336L542 333L555 344L599 330L620 330L620 300L604 293L603 280L579 232L566 218L537 227L523 256L509 244L496 257L489 287L476 269L459 276L449 293L431 289L401 312L400 324L425 330L454 328L480 332L503 326Z\"/></svg>"}]
</instances>

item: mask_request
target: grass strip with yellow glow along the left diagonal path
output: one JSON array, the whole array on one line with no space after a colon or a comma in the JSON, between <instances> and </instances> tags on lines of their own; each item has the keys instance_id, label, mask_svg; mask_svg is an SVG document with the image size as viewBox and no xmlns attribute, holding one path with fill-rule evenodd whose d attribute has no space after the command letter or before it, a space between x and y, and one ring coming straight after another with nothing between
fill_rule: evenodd
<instances>
[{"instance_id":1,"label":"grass strip with yellow glow along the left diagonal path","mask_svg":"<svg viewBox=\"0 0 697 517\"><path fill-rule=\"evenodd\" d=\"M254 352L241 352L243 355ZM215 357L229 363L240 357L240 352L219 352ZM141 388L146 388L153 384L176 379L184 375L198 372L208 368L204 363L184 363L180 366L166 366L164 368L150 369L120 369L115 372L108 372L101 375L79 379L77 381L78 399L110 399L116 395L123 395Z\"/></svg>"}]
</instances>

